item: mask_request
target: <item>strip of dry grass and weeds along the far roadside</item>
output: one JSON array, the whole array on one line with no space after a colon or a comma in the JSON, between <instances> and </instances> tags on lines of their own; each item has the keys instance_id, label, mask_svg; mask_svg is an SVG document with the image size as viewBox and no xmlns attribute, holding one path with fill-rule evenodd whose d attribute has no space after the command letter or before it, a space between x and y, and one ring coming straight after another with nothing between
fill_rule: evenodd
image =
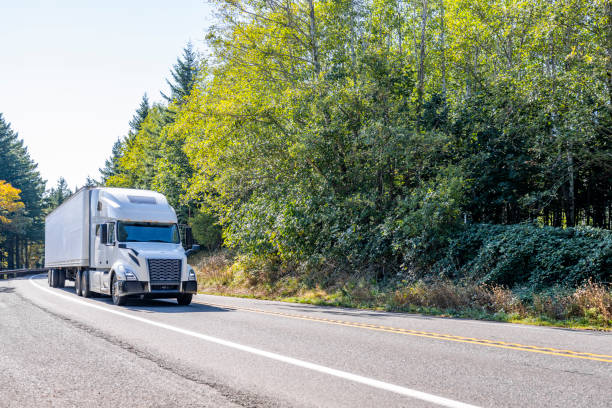
<instances>
[{"instance_id":1,"label":"strip of dry grass and weeds along the far roadside","mask_svg":"<svg viewBox=\"0 0 612 408\"><path fill-rule=\"evenodd\" d=\"M196 254L190 263L204 293L570 327L612 327L612 285L590 281L575 290L527 293L521 299L516 292L497 285L433 280L381 287L338 270L330 275L335 279L321 287L288 273L277 260L237 257L223 249Z\"/></svg>"}]
</instances>

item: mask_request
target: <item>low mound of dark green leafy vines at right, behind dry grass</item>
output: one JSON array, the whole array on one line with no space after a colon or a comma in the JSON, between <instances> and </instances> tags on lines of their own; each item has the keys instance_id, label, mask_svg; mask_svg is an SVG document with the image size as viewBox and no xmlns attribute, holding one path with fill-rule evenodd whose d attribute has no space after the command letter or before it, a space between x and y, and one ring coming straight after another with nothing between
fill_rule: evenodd
<instances>
[{"instance_id":1,"label":"low mound of dark green leafy vines at right, behind dry grass","mask_svg":"<svg viewBox=\"0 0 612 408\"><path fill-rule=\"evenodd\" d=\"M612 232L533 224L466 227L450 240L435 268L448 276L510 287L575 287L612 282Z\"/></svg>"}]
</instances>

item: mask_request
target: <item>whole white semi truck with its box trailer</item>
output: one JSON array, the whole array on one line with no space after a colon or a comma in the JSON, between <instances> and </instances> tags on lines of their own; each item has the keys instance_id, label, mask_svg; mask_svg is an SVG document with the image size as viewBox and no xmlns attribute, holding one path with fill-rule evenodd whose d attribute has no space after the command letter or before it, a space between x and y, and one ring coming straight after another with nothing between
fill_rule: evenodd
<instances>
[{"instance_id":1,"label":"whole white semi truck with its box trailer","mask_svg":"<svg viewBox=\"0 0 612 408\"><path fill-rule=\"evenodd\" d=\"M51 287L74 281L77 295L176 298L191 303L196 275L187 264L176 213L154 191L82 188L45 219Z\"/></svg>"}]
</instances>

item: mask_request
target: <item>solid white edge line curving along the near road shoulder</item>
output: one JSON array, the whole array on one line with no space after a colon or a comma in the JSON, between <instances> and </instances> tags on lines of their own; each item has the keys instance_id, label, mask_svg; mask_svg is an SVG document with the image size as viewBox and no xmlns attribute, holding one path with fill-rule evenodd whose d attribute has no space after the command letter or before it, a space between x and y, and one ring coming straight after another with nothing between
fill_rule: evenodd
<instances>
[{"instance_id":1,"label":"solid white edge line curving along the near road shoulder","mask_svg":"<svg viewBox=\"0 0 612 408\"><path fill-rule=\"evenodd\" d=\"M255 347L250 347L250 346L245 346L239 343L234 343L232 341L228 341L228 340L223 340L220 339L218 337L213 337L213 336L208 336L206 334L201 334L201 333L197 333L191 330L186 330L186 329L181 329L180 327L175 327L175 326L171 326L169 324L165 324L165 323L159 323L159 322L155 322L153 320L149 320L149 319L145 319L143 317L140 316L133 316L131 314L128 313L124 313L124 312L120 312L118 310L113 310L113 309L109 309L107 307L104 306L100 306L97 305L95 303L90 303L90 302L86 302L83 301L77 297L72 297L72 296L68 296L68 295L64 295L61 293L57 293L49 288L46 288L40 284L35 283L32 279L36 276L41 276L41 275L34 275L32 277L29 278L30 283L32 283L32 285L34 285L35 287L51 293L55 296L59 296L61 298L64 298L65 300L69 300L71 302L75 302L75 303L79 303L83 306L87 306L87 307L91 307L93 309L98 309L98 310L102 310L104 312L107 313L112 313L121 317L125 317L127 319L132 319L132 320L136 320L138 322L141 323L146 323L149 324L151 326L156 326L156 327L160 327L162 329L166 329L166 330L171 330L173 332L176 333L180 333L180 334L184 334L186 336L191 336L191 337L195 337L198 338L200 340L204 340L204 341L208 341L210 343L215 343L215 344L219 344L225 347L229 347L229 348L233 348L236 350L240 350L240 351L244 351L247 353L251 353L251 354L255 354L258 356L262 356L262 357L266 357L272 360L276 360L276 361L281 361L283 363L286 364L291 364L297 367L302 367L302 368L306 368L312 371L317 371L323 374L328 374L334 377L338 377L338 378L342 378L345 380L349 380L349 381L353 381L359 384L364 384L364 385L368 385L370 387L374 387L374 388L378 388L381 390L385 390L385 391L390 391L396 394L400 394L400 395L405 395L407 397L411 397L411 398L416 398L422 401L427 401L427 402L431 402L433 404L437 404L443 407L449 407L449 408L479 408L476 405L470 405L470 404L466 404L463 402L459 402L459 401L455 401L449 398L444 398L444 397L439 397L437 395L433 395L433 394L428 394L426 392L422 392L422 391L417 391L417 390L413 390L411 388L406 388L406 387L402 387L400 385L395 385L395 384L390 384L390 383L386 383L383 381L379 381L379 380L375 380L373 378L368 378L368 377L363 377L361 375L357 375L357 374L352 374L346 371L341 371L341 370L336 370L334 368L330 368L330 367L325 367L319 364L315 364L315 363L310 363L308 361L304 361L304 360L299 360L297 358L293 358L293 357L287 357L284 356L282 354L277 354L277 353L272 353L269 351L265 351L265 350L260 350L258 348Z\"/></svg>"}]
</instances>

